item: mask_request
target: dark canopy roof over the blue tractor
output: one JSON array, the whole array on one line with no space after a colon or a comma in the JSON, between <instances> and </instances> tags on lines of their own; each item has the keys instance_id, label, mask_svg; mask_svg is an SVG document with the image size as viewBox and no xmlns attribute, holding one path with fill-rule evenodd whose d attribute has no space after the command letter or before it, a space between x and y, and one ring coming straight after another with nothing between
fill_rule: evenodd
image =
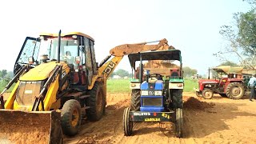
<instances>
[{"instance_id":1,"label":"dark canopy roof over the blue tractor","mask_svg":"<svg viewBox=\"0 0 256 144\"><path fill-rule=\"evenodd\" d=\"M178 60L182 62L182 54L180 50L158 50L142 53L128 54L130 66L135 68L135 62L140 61L140 55L143 60Z\"/></svg>"}]
</instances>

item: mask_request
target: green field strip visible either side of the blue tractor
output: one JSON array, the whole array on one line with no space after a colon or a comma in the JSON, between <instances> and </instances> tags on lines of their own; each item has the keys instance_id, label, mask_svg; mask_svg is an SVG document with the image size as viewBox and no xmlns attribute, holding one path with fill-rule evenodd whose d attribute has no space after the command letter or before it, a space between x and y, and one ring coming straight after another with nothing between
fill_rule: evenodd
<instances>
[{"instance_id":1,"label":"green field strip visible either side of the blue tractor","mask_svg":"<svg viewBox=\"0 0 256 144\"><path fill-rule=\"evenodd\" d=\"M194 87L198 87L198 80L185 79L185 92L193 92ZM109 79L106 82L108 93L130 93L130 80L129 79Z\"/></svg>"}]
</instances>

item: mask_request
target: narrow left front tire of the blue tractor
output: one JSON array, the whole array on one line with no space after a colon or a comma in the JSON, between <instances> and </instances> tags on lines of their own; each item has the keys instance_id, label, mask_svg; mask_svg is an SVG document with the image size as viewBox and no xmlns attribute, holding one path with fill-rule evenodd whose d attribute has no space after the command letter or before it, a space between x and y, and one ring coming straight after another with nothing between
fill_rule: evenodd
<instances>
[{"instance_id":1,"label":"narrow left front tire of the blue tractor","mask_svg":"<svg viewBox=\"0 0 256 144\"><path fill-rule=\"evenodd\" d=\"M130 121L130 107L126 107L122 116L123 131L126 136L133 134L133 122Z\"/></svg>"}]
</instances>

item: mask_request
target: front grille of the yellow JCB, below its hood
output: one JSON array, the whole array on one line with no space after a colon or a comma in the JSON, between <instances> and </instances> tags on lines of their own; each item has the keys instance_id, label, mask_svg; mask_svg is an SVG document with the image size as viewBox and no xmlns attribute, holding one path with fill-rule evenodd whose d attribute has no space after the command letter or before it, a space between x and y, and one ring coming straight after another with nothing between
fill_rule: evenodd
<instances>
[{"instance_id":1,"label":"front grille of the yellow JCB, below its hood","mask_svg":"<svg viewBox=\"0 0 256 144\"><path fill-rule=\"evenodd\" d=\"M20 82L16 93L18 105L32 106L34 97L40 93L42 82Z\"/></svg>"}]
</instances>

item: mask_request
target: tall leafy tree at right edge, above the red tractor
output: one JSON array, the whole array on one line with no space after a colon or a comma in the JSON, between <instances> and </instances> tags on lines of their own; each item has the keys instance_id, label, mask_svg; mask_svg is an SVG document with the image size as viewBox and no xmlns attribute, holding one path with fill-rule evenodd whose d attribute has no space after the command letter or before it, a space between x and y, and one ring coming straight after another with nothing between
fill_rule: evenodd
<instances>
[{"instance_id":1,"label":"tall leafy tree at right edge, above the red tractor","mask_svg":"<svg viewBox=\"0 0 256 144\"><path fill-rule=\"evenodd\" d=\"M229 42L216 55L223 62L236 58L241 66L254 69L256 65L256 0L246 0L251 9L246 13L234 14L234 25L222 26L220 34Z\"/></svg>"}]
</instances>

